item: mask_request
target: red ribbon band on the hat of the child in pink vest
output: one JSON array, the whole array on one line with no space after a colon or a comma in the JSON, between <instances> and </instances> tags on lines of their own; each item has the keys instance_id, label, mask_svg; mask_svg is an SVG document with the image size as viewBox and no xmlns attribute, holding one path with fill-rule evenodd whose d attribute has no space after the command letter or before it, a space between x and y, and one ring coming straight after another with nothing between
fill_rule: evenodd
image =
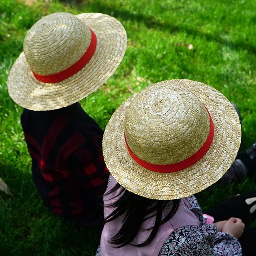
<instances>
[{"instance_id":1,"label":"red ribbon band on the hat of the child in pink vest","mask_svg":"<svg viewBox=\"0 0 256 256\"><path fill-rule=\"evenodd\" d=\"M125 139L126 147L128 149L129 154L132 156L133 160L136 163L138 163L140 166L142 166L150 171L153 171L153 172L163 172L163 173L179 172L181 170L184 170L184 169L192 166L193 164L196 164L196 162L198 162L206 154L206 152L212 145L212 140L213 140L213 136L214 136L214 124L212 121L212 117L207 108L206 108L206 110L209 114L210 125L211 125L209 135L208 135L207 139L205 140L204 145L198 151L196 151L195 154L188 157L187 159L180 161L178 163L175 163L175 164L166 164L166 165L148 163L148 162L140 159L138 156L135 156L132 153L132 150L129 148L129 146L127 144L125 133L124 133L124 139Z\"/></svg>"}]
</instances>

